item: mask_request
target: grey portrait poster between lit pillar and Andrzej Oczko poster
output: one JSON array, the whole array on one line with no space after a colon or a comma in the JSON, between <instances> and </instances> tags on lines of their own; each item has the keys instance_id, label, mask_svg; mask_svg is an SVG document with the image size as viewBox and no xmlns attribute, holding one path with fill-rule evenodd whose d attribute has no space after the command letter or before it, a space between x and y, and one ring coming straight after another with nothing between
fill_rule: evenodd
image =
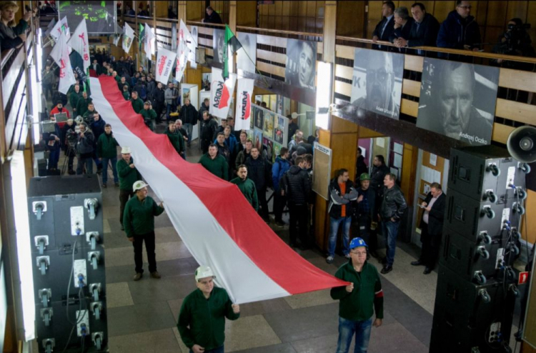
<instances>
[{"instance_id":1,"label":"grey portrait poster between lit pillar and Andrzej Oczko poster","mask_svg":"<svg viewBox=\"0 0 536 353\"><path fill-rule=\"evenodd\" d=\"M404 55L355 49L352 106L398 119L403 73Z\"/></svg>"}]
</instances>

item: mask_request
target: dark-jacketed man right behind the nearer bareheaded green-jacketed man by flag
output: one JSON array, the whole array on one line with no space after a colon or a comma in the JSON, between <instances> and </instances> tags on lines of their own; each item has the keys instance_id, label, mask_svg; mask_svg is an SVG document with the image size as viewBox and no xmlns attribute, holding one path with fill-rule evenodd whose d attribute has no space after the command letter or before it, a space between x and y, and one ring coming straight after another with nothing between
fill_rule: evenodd
<instances>
[{"instance_id":1,"label":"dark-jacketed man right behind the nearer bareheaded green-jacketed man by flag","mask_svg":"<svg viewBox=\"0 0 536 353\"><path fill-rule=\"evenodd\" d=\"M218 136L219 137L219 136ZM257 147L253 147L251 156L246 159L247 174L249 179L255 183L257 189L257 199L259 199L259 215L264 222L269 222L268 202L266 201L266 190L272 177L272 167L268 161L259 154Z\"/></svg>"}]
</instances>

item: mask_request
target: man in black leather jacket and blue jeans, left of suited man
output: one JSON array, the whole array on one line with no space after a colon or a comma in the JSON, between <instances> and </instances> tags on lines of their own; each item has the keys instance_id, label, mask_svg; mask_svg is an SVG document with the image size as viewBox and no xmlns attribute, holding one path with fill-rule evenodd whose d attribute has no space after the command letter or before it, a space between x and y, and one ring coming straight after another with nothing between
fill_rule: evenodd
<instances>
[{"instance_id":1,"label":"man in black leather jacket and blue jeans, left of suited man","mask_svg":"<svg viewBox=\"0 0 536 353\"><path fill-rule=\"evenodd\" d=\"M384 192L382 205L379 207L379 219L382 221L382 232L386 239L387 249L385 251L385 259L382 261L384 267L382 274L387 274L392 271L394 262L394 251L397 249L397 235L400 219L407 209L404 193L395 182L397 176L387 174L383 179Z\"/></svg>"}]
</instances>

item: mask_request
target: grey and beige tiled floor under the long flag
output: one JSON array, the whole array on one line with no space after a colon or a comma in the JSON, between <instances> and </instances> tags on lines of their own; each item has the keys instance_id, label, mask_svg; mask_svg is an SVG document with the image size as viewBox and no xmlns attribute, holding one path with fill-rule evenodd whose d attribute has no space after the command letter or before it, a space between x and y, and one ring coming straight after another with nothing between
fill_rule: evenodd
<instances>
[{"instance_id":1,"label":"grey and beige tiled floor under the long flag","mask_svg":"<svg viewBox=\"0 0 536 353\"><path fill-rule=\"evenodd\" d=\"M197 162L199 153L197 145L192 144L187 159ZM133 249L119 229L119 190L111 186L103 189L103 199L109 351L187 353L176 323L182 300L196 288L197 262L164 213L155 222L157 262L162 279L146 275L141 281L133 282ZM275 232L288 239L287 227L277 227ZM345 262L344 258L336 257L334 264L327 264L319 250L300 254L330 274ZM428 352L437 274L425 276L422 267L410 266L417 254L415 247L399 244L394 270L381 275L384 322L382 327L372 329L371 353ZM371 263L380 268L375 259ZM338 303L329 297L328 290L243 304L241 317L227 322L225 350L335 352L337 318Z\"/></svg>"}]
</instances>

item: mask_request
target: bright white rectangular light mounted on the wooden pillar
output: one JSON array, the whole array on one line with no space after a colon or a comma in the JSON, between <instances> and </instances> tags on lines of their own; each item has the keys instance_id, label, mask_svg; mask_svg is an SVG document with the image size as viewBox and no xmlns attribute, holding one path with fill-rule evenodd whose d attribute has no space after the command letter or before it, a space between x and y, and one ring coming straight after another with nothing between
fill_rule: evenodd
<instances>
[{"instance_id":1,"label":"bright white rectangular light mounted on the wooden pillar","mask_svg":"<svg viewBox=\"0 0 536 353\"><path fill-rule=\"evenodd\" d=\"M329 105L332 100L332 70L330 63L319 61L317 66L317 105L314 123L320 129L329 129Z\"/></svg>"}]
</instances>

